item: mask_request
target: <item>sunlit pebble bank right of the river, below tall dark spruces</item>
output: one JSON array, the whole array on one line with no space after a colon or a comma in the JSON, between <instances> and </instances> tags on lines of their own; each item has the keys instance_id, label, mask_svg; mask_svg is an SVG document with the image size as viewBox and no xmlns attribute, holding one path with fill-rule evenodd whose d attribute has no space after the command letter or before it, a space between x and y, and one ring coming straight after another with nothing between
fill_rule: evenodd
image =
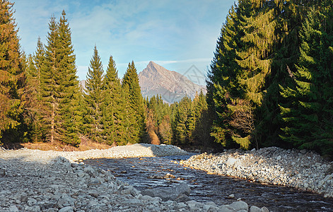
<instances>
[{"instance_id":1,"label":"sunlit pebble bank right of the river, below tall dark spruces","mask_svg":"<svg viewBox=\"0 0 333 212\"><path fill-rule=\"evenodd\" d=\"M333 162L312 151L277 147L258 151L228 150L218 154L194 155L181 165L211 174L250 179L333 197Z\"/></svg>"}]
</instances>

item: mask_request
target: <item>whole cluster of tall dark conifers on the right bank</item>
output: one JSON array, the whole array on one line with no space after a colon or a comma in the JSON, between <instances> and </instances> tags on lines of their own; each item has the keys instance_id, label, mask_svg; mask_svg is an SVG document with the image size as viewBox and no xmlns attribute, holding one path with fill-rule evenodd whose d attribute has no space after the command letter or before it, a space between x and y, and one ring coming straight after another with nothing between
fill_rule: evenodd
<instances>
[{"instance_id":1,"label":"whole cluster of tall dark conifers on the right bank","mask_svg":"<svg viewBox=\"0 0 333 212\"><path fill-rule=\"evenodd\" d=\"M331 3L244 0L230 9L207 81L215 141L324 152L332 139Z\"/></svg>"}]
</instances>

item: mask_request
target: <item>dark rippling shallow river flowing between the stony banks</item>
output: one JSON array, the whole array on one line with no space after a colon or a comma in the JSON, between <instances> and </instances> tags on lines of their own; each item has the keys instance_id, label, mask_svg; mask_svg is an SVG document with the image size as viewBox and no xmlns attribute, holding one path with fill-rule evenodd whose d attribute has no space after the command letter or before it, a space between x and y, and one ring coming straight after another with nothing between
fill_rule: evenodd
<instances>
[{"instance_id":1,"label":"dark rippling shallow river flowing between the stony banks","mask_svg":"<svg viewBox=\"0 0 333 212\"><path fill-rule=\"evenodd\" d=\"M333 211L333 199L320 194L300 192L288 187L263 185L243 179L221 175L208 175L175 163L189 155L156 158L90 159L84 163L110 170L117 179L128 182L136 189L173 187L186 182L191 188L190 199L218 205L231 204L241 198L249 206L266 206L269 211ZM159 179L170 174L169 179ZM228 199L230 194L235 199Z\"/></svg>"}]
</instances>

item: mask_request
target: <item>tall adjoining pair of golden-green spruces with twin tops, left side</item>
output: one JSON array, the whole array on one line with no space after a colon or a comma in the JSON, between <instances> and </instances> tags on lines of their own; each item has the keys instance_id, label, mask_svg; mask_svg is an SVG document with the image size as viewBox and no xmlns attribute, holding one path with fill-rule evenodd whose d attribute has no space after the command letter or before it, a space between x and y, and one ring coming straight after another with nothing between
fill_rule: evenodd
<instances>
[{"instance_id":1,"label":"tall adjoining pair of golden-green spruces with twin tops, left side","mask_svg":"<svg viewBox=\"0 0 333 212\"><path fill-rule=\"evenodd\" d=\"M80 143L80 98L71 31L63 11L59 23L52 17L45 49L45 69L40 72L42 117L47 141Z\"/></svg>"}]
</instances>

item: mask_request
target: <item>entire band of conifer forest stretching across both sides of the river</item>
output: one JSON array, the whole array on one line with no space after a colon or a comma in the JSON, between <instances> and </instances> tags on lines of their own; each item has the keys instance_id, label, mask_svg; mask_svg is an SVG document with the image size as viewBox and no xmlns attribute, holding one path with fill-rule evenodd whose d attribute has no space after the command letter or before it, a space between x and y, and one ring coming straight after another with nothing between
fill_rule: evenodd
<instances>
[{"instance_id":1,"label":"entire band of conifer forest stretching across both sides of the river","mask_svg":"<svg viewBox=\"0 0 333 212\"><path fill-rule=\"evenodd\" d=\"M333 0L238 0L206 73L208 93L171 105L143 98L129 59L91 49L86 86L65 11L47 42L21 50L13 3L0 1L0 144L83 138L107 145L279 146L333 155ZM112 51L112 49L110 49ZM117 54L117 52L110 52ZM106 61L104 61L106 62Z\"/></svg>"}]
</instances>

